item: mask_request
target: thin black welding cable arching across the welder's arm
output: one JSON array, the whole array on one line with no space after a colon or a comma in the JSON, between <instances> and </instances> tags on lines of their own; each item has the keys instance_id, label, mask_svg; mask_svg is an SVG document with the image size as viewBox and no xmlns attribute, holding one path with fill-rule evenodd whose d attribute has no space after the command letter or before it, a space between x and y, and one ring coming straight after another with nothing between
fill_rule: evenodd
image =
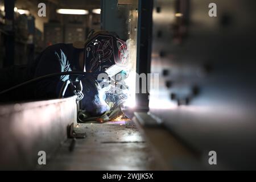
<instances>
[{"instance_id":1,"label":"thin black welding cable arching across the welder's arm","mask_svg":"<svg viewBox=\"0 0 256 182\"><path fill-rule=\"evenodd\" d=\"M49 77L63 76L63 75L80 75L80 76L89 76L90 75L90 76L95 76L95 75L98 75L99 73L102 73L102 72L93 72L93 73L91 73L91 72L71 71L71 72L51 73L51 74L48 74L48 75L36 77L34 79L25 81L25 82L23 82L21 84L15 85L15 86L13 86L13 87L11 87L9 89L3 90L2 92L0 92L0 95L4 94L6 92L9 92L11 90L14 90L16 88L19 88L20 86L31 84L32 82L43 80L43 79L49 78Z\"/></svg>"}]
</instances>

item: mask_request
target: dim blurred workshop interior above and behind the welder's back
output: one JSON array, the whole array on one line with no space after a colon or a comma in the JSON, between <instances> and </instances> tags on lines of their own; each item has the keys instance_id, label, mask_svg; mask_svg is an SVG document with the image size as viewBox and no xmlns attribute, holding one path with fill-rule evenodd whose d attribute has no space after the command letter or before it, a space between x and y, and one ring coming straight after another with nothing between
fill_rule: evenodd
<instances>
[{"instance_id":1,"label":"dim blurred workshop interior above and behind the welder's back","mask_svg":"<svg viewBox=\"0 0 256 182\"><path fill-rule=\"evenodd\" d=\"M90 29L100 30L100 0L96 1L6 1L14 3L14 14L6 14L3 1L0 2L1 60L0 65L22 65L33 61L44 48L56 43L84 41ZM40 17L39 3L45 3L46 16ZM83 9L84 15L59 14L56 9ZM90 12L88 11L90 10ZM94 10L94 11L93 11ZM94 13L93 13L93 12ZM13 16L13 17L11 17ZM10 17L10 18L9 18ZM8 28L14 20L13 28ZM4 37L14 36L14 57L6 57ZM11 38L10 38L11 39ZM10 42L10 40L6 40ZM9 43L11 44L11 43ZM10 46L11 47L11 46ZM7 48L8 49L8 48ZM8 63L6 63L8 59Z\"/></svg>"}]
</instances>

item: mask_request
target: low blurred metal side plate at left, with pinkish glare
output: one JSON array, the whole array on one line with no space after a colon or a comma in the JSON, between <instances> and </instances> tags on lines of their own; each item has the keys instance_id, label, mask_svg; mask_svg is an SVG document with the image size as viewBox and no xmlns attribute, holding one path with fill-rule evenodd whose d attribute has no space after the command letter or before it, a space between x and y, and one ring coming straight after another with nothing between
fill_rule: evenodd
<instances>
[{"instance_id":1,"label":"low blurred metal side plate at left, with pinkish glare","mask_svg":"<svg viewBox=\"0 0 256 182\"><path fill-rule=\"evenodd\" d=\"M76 97L0 106L0 169L34 169L47 159L76 121Z\"/></svg>"}]
</instances>

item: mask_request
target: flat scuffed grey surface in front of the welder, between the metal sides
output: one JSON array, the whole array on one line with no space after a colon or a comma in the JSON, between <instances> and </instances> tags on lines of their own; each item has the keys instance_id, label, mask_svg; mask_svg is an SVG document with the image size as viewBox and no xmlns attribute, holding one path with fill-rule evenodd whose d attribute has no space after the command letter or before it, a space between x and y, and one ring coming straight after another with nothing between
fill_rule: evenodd
<instances>
[{"instance_id":1,"label":"flat scuffed grey surface in front of the welder, between the metal sides","mask_svg":"<svg viewBox=\"0 0 256 182\"><path fill-rule=\"evenodd\" d=\"M81 125L81 124L80 124ZM133 121L86 123L87 137L64 142L41 169L47 170L160 170L162 167Z\"/></svg>"}]
</instances>

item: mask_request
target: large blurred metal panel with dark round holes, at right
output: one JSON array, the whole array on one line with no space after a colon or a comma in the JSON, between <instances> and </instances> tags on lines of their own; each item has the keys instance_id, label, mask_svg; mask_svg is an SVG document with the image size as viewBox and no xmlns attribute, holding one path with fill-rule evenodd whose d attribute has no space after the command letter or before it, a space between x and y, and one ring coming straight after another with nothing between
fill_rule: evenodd
<instances>
[{"instance_id":1,"label":"large blurred metal panel with dark round holes, at right","mask_svg":"<svg viewBox=\"0 0 256 182\"><path fill-rule=\"evenodd\" d=\"M256 169L256 2L216 0L210 17L211 2L154 2L150 113L205 166L214 150L220 168Z\"/></svg>"}]
</instances>

